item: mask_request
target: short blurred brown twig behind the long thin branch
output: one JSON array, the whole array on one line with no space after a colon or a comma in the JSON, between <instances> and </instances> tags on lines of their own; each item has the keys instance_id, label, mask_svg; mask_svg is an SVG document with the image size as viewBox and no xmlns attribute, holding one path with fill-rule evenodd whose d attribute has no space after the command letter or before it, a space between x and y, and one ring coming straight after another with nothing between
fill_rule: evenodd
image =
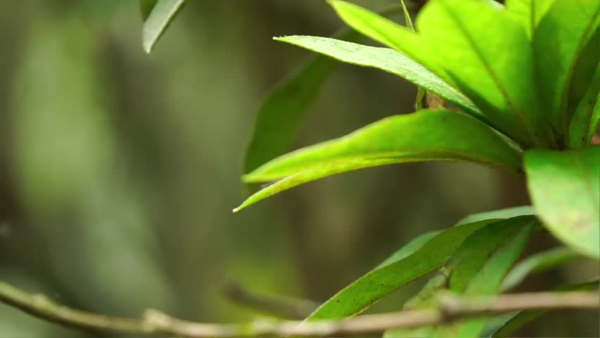
<instances>
[{"instance_id":1,"label":"short blurred brown twig behind the long thin branch","mask_svg":"<svg viewBox=\"0 0 600 338\"><path fill-rule=\"evenodd\" d=\"M221 290L223 295L232 301L232 303L246 306L255 311L275 315L277 318L306 318L318 307L318 303L309 301L308 299L292 299L255 294L233 281L223 283Z\"/></svg>"}]
</instances>

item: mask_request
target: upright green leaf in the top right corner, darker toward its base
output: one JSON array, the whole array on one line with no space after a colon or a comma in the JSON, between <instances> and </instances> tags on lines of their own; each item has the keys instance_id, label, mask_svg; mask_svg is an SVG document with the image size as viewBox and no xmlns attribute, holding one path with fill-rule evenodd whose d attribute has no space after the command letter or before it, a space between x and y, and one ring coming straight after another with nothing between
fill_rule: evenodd
<instances>
[{"instance_id":1,"label":"upright green leaf in the top right corner, darker toward its base","mask_svg":"<svg viewBox=\"0 0 600 338\"><path fill-rule=\"evenodd\" d=\"M573 70L587 41L598 29L599 13L597 0L555 0L533 37L543 108L560 132L568 128L567 105ZM598 62L596 57L595 64Z\"/></svg>"}]
</instances>

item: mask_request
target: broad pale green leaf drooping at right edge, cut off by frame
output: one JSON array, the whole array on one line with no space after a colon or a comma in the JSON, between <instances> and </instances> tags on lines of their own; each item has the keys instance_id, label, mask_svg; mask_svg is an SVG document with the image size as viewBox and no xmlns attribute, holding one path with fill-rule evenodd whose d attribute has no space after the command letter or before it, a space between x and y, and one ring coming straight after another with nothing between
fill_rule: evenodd
<instances>
[{"instance_id":1,"label":"broad pale green leaf drooping at right edge, cut off by frame","mask_svg":"<svg viewBox=\"0 0 600 338\"><path fill-rule=\"evenodd\" d=\"M600 146L525 153L527 185L537 215L558 239L600 258Z\"/></svg>"}]
</instances>

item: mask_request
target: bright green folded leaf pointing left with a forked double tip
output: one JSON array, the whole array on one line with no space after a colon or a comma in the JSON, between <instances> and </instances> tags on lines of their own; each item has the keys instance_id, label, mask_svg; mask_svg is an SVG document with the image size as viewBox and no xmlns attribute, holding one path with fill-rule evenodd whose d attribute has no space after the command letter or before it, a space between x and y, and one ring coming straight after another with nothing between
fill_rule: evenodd
<instances>
[{"instance_id":1,"label":"bright green folded leaf pointing left with a forked double tip","mask_svg":"<svg viewBox=\"0 0 600 338\"><path fill-rule=\"evenodd\" d=\"M345 137L265 163L245 175L244 181L280 181L250 196L234 211L322 177L415 161L472 161L519 171L521 159L519 151L474 118L454 111L424 110L385 118Z\"/></svg>"}]
</instances>

